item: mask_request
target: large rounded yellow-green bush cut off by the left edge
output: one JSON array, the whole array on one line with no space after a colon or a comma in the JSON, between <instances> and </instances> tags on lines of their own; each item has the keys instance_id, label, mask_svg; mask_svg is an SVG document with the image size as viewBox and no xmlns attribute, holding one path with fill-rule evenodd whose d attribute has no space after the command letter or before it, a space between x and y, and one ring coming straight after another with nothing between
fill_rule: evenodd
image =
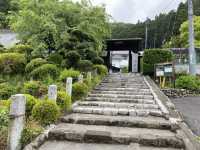
<instances>
[{"instance_id":1,"label":"large rounded yellow-green bush cut off by the left edge","mask_svg":"<svg viewBox=\"0 0 200 150\"><path fill-rule=\"evenodd\" d=\"M24 54L20 53L2 53L0 54L0 72L1 74L24 73L26 59Z\"/></svg>"}]
</instances>

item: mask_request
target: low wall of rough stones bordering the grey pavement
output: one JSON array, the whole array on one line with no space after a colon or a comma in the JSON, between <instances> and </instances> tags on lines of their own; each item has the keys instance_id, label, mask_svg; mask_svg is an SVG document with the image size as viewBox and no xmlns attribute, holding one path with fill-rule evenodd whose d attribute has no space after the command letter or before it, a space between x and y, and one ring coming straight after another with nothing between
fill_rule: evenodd
<instances>
[{"instance_id":1,"label":"low wall of rough stones bordering the grey pavement","mask_svg":"<svg viewBox=\"0 0 200 150\"><path fill-rule=\"evenodd\" d=\"M162 89L163 93L170 98L179 98L187 96L199 96L200 90L186 90L186 89Z\"/></svg>"}]
</instances>

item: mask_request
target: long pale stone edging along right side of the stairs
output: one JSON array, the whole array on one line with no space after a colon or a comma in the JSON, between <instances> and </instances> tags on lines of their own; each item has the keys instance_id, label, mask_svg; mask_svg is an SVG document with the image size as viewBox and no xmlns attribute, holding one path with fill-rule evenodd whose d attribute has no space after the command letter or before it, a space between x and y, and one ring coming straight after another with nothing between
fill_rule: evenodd
<instances>
[{"instance_id":1,"label":"long pale stone edging along right side of the stairs","mask_svg":"<svg viewBox=\"0 0 200 150\"><path fill-rule=\"evenodd\" d=\"M164 93L149 76L146 76L144 78L151 86L152 90L154 91L153 93L158 95L159 100L162 102L165 108L168 108L170 117L169 119L174 120L180 126L182 134L177 134L183 139L186 146L186 150L200 150L200 143L197 141L197 136L193 134L191 129L184 122L182 115L180 115L181 113L175 108L175 106L169 106L169 104L173 104L171 100L166 95L164 95Z\"/></svg>"}]
</instances>

